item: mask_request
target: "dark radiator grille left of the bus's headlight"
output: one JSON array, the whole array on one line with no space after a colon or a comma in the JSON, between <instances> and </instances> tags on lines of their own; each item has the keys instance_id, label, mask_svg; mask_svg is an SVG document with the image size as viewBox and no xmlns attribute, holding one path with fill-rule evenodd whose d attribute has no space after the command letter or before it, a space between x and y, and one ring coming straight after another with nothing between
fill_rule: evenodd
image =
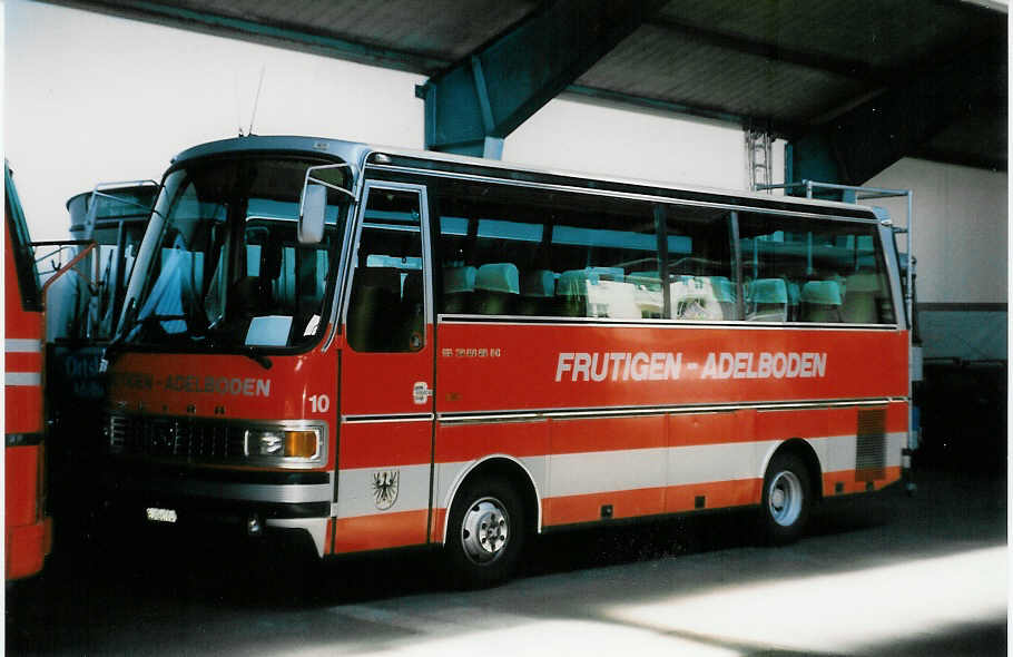
<instances>
[{"instance_id":1,"label":"dark radiator grille left of the bus's headlight","mask_svg":"<svg viewBox=\"0 0 1013 657\"><path fill-rule=\"evenodd\" d=\"M246 450L243 428L220 420L110 414L107 426L109 449L119 454L220 461Z\"/></svg>"}]
</instances>

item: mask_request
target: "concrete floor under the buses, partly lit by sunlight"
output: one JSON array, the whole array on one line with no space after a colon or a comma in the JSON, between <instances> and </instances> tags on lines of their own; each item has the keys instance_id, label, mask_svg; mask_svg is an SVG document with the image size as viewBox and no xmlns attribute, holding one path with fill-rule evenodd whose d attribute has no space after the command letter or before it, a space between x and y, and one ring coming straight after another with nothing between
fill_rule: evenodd
<instances>
[{"instance_id":1,"label":"concrete floor under the buses, partly lit by sunlight","mask_svg":"<svg viewBox=\"0 0 1013 657\"><path fill-rule=\"evenodd\" d=\"M1006 483L923 473L820 508L787 548L744 513L568 532L512 582L425 553L289 566L144 537L66 548L8 591L11 655L1005 655Z\"/></svg>"}]
</instances>

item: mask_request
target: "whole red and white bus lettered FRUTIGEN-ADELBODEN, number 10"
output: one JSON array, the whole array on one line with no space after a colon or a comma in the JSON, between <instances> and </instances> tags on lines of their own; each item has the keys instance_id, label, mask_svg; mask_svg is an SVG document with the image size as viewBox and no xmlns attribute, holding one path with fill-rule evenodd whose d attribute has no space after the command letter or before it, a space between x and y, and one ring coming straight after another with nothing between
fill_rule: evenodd
<instances>
[{"instance_id":1,"label":"whole red and white bus lettered FRUTIGEN-ADELBODEN, number 10","mask_svg":"<svg viewBox=\"0 0 1013 657\"><path fill-rule=\"evenodd\" d=\"M168 169L107 353L115 500L443 547L897 481L908 339L869 208L306 137Z\"/></svg>"}]
</instances>

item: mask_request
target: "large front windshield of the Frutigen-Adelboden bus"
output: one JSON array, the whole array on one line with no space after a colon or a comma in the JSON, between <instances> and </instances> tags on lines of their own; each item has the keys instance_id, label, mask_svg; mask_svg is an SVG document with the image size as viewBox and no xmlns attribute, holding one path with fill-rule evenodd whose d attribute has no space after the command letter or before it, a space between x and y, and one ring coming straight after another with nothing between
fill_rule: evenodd
<instances>
[{"instance_id":1,"label":"large front windshield of the Frutigen-Adelboden bus","mask_svg":"<svg viewBox=\"0 0 1013 657\"><path fill-rule=\"evenodd\" d=\"M326 324L321 317L348 199L332 190L324 239L298 243L304 176L319 164L245 156L171 170L138 254L122 340L187 350L313 342Z\"/></svg>"}]
</instances>

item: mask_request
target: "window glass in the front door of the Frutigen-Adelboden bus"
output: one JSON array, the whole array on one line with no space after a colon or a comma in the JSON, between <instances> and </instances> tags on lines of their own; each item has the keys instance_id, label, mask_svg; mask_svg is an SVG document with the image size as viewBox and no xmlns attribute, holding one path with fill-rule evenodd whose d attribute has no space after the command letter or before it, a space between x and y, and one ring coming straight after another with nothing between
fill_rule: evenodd
<instances>
[{"instance_id":1,"label":"window glass in the front door of the Frutigen-Adelboden bus","mask_svg":"<svg viewBox=\"0 0 1013 657\"><path fill-rule=\"evenodd\" d=\"M372 188L352 275L347 340L358 352L412 352L424 344L419 194Z\"/></svg>"}]
</instances>

